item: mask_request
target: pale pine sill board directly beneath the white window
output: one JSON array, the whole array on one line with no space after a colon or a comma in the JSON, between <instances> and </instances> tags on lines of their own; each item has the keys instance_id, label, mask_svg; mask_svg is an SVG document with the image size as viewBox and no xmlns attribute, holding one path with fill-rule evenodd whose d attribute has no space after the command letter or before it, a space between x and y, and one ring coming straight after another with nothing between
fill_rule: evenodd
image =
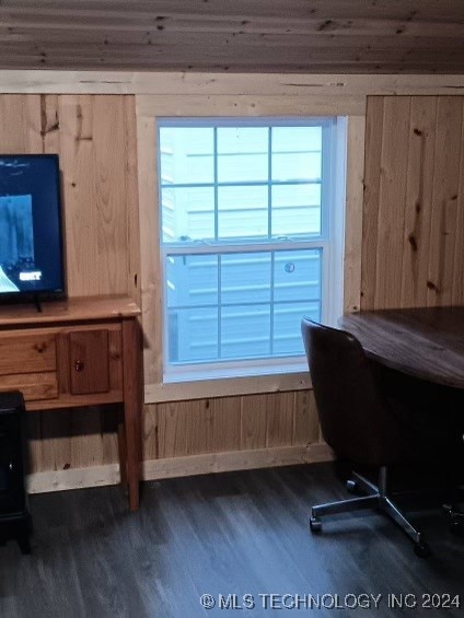
<instances>
[{"instance_id":1,"label":"pale pine sill board directly beneath the white window","mask_svg":"<svg viewBox=\"0 0 464 618\"><path fill-rule=\"evenodd\" d=\"M262 393L285 393L311 388L309 371L292 373L274 373L267 375L242 375L217 377L209 380L184 380L163 384L147 384L144 388L146 404L162 404L189 399L213 397L236 397L241 395L258 395Z\"/></svg>"}]
</instances>

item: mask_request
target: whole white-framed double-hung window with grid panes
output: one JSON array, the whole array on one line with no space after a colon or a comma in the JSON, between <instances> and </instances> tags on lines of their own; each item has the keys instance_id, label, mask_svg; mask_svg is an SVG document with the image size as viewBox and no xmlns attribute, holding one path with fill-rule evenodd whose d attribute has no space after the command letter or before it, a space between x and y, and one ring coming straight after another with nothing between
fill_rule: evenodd
<instances>
[{"instance_id":1,"label":"whole white-framed double-hung window with grid panes","mask_svg":"<svg viewBox=\"0 0 464 618\"><path fill-rule=\"evenodd\" d=\"M301 317L341 313L340 126L159 120L166 382L301 369Z\"/></svg>"}]
</instances>

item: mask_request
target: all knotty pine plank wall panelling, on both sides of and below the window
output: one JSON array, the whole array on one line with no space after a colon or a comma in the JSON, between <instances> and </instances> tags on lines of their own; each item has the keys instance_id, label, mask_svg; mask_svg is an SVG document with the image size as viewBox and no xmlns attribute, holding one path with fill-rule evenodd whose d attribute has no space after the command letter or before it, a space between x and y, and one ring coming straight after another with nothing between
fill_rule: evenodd
<instances>
[{"instance_id":1,"label":"all knotty pine plank wall panelling, on both sides of and below the window","mask_svg":"<svg viewBox=\"0 0 464 618\"><path fill-rule=\"evenodd\" d=\"M464 302L463 102L368 98L361 308ZM60 154L70 295L140 298L136 142L134 96L0 96L0 151ZM114 470L115 411L31 415L32 471ZM146 412L146 459L181 462L182 474L202 456L281 448L286 458L286 448L301 456L298 448L320 440L311 392L155 404Z\"/></svg>"}]
</instances>

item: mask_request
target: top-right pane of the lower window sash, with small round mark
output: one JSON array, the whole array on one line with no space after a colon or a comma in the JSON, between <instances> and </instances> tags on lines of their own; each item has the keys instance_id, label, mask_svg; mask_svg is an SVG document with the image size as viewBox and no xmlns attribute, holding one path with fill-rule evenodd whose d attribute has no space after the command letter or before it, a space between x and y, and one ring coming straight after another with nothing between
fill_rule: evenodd
<instances>
[{"instance_id":1,"label":"top-right pane of the lower window sash, with small round mark","mask_svg":"<svg viewBox=\"0 0 464 618\"><path fill-rule=\"evenodd\" d=\"M274 301L318 301L321 299L320 249L276 253Z\"/></svg>"}]
</instances>

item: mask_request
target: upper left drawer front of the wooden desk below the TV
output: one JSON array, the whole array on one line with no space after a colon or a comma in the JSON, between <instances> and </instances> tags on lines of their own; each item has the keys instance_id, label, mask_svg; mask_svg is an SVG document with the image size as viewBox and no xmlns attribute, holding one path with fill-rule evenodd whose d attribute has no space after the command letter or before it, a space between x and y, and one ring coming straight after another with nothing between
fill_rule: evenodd
<instances>
[{"instance_id":1,"label":"upper left drawer front of the wooden desk below the TV","mask_svg":"<svg viewBox=\"0 0 464 618\"><path fill-rule=\"evenodd\" d=\"M56 371L55 334L0 334L0 375Z\"/></svg>"}]
</instances>

